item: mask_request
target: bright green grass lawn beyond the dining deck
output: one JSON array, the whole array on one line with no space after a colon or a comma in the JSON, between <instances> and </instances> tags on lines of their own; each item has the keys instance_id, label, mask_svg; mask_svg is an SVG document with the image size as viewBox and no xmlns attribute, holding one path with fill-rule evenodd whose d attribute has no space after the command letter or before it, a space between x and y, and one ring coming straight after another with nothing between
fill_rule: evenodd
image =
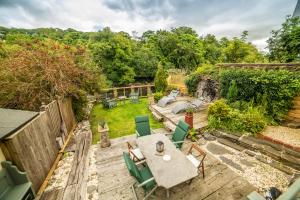
<instances>
[{"instance_id":1,"label":"bright green grass lawn beyond the dining deck","mask_svg":"<svg viewBox=\"0 0 300 200\"><path fill-rule=\"evenodd\" d=\"M90 115L93 144L99 141L99 134L97 133L99 120L104 119L108 123L109 137L117 138L135 133L134 117L138 115L148 115L152 129L163 127L162 123L155 121L152 117L146 98L140 99L140 103L137 104L127 101L125 105L118 104L112 109L103 109L102 104L95 105Z\"/></svg>"}]
</instances>

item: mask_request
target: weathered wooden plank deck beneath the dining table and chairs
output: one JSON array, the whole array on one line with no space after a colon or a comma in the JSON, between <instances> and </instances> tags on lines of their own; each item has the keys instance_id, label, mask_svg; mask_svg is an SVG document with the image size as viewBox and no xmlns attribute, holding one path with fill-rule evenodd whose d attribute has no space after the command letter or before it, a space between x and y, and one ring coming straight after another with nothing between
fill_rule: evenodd
<instances>
[{"instance_id":1,"label":"weathered wooden plank deck beneath the dining table and chairs","mask_svg":"<svg viewBox=\"0 0 300 200\"><path fill-rule=\"evenodd\" d=\"M168 133L165 129L155 132ZM126 141L135 143L134 135L113 139L112 146L95 148L95 166L98 174L98 195L90 199L134 199L130 186L135 180L129 175L122 153L127 152ZM183 145L182 151L187 152L191 143ZM182 183L170 190L169 199L244 199L256 188L231 170L225 164L208 154L205 158L205 178L196 177L190 185ZM89 190L89 189L88 189ZM142 189L136 189L139 198L143 196ZM150 198L151 199L151 198ZM166 199L164 188L158 188L152 199Z\"/></svg>"}]
</instances>

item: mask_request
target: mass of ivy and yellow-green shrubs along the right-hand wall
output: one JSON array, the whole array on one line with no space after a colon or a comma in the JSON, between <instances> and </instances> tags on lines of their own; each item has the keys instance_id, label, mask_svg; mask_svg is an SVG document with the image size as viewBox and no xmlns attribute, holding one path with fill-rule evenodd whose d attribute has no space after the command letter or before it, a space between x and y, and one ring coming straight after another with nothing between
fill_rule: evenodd
<instances>
[{"instance_id":1,"label":"mass of ivy and yellow-green shrubs along the right-hand wall","mask_svg":"<svg viewBox=\"0 0 300 200\"><path fill-rule=\"evenodd\" d=\"M267 124L280 123L300 92L300 73L287 70L199 67L186 79L191 94L199 81L219 82L220 95L209 108L209 128L236 133L258 133Z\"/></svg>"}]
</instances>

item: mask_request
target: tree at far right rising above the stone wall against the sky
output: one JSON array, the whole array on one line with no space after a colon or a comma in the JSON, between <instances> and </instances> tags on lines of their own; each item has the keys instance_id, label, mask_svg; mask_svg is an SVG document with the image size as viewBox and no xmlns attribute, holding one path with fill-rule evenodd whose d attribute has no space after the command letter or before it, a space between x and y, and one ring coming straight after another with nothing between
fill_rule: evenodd
<instances>
[{"instance_id":1,"label":"tree at far right rising above the stone wall against the sky","mask_svg":"<svg viewBox=\"0 0 300 200\"><path fill-rule=\"evenodd\" d=\"M300 17L287 16L282 27L271 34L267 40L270 61L300 61Z\"/></svg>"}]
</instances>

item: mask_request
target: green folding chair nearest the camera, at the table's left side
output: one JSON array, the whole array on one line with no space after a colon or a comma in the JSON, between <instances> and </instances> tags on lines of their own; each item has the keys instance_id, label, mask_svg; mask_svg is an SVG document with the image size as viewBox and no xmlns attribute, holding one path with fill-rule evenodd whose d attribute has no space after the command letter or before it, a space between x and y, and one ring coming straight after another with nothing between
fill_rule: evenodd
<instances>
[{"instance_id":1,"label":"green folding chair nearest the camera, at the table's left side","mask_svg":"<svg viewBox=\"0 0 300 200\"><path fill-rule=\"evenodd\" d=\"M130 155L126 152L123 152L123 158L130 175L136 179L136 182L131 186L135 195L135 199L137 200L137 195L135 192L136 185L137 187L142 187L144 189L145 194L143 200L147 199L157 188L157 184L149 167L141 165L141 168L139 169L134 161L130 158Z\"/></svg>"}]
</instances>

